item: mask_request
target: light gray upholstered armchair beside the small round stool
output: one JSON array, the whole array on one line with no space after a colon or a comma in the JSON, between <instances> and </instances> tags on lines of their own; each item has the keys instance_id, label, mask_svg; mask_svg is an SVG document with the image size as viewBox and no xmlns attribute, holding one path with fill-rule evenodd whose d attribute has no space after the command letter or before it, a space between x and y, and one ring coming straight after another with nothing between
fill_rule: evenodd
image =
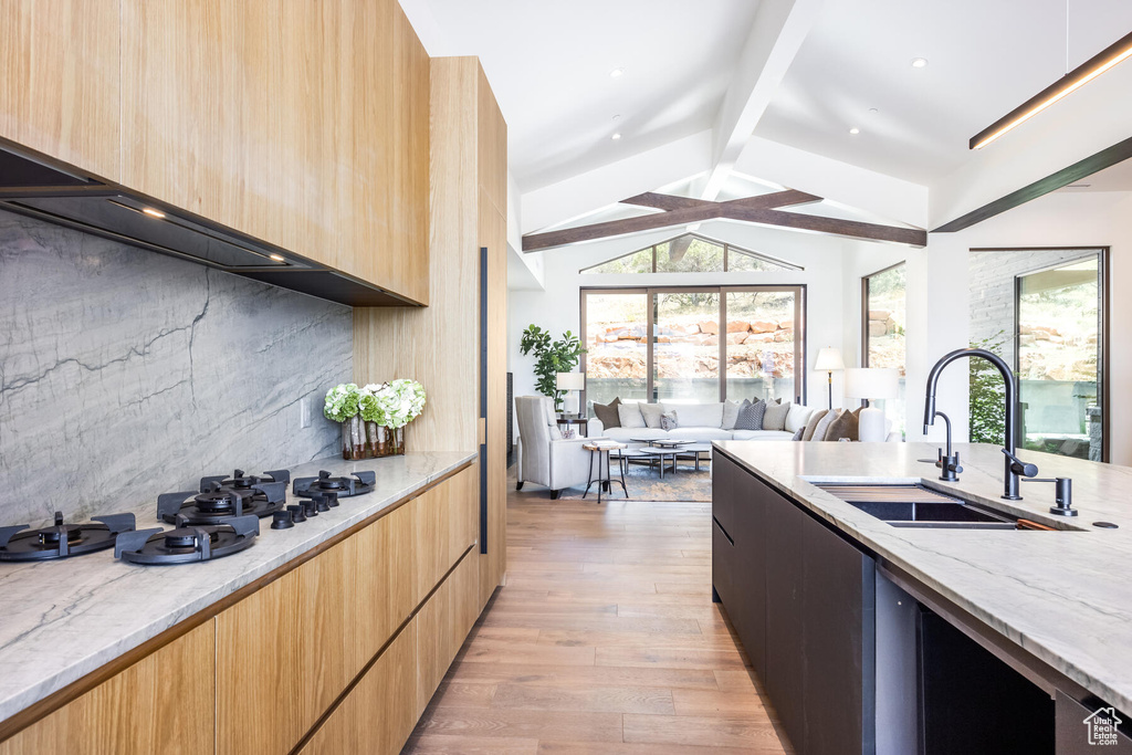
<instances>
[{"instance_id":1,"label":"light gray upholstered armchair beside the small round stool","mask_svg":"<svg viewBox=\"0 0 1132 755\"><path fill-rule=\"evenodd\" d=\"M590 452L582 446L592 438L564 439L555 418L554 403L546 396L516 396L518 418L518 480L550 488L558 498L563 488L585 484L590 479Z\"/></svg>"}]
</instances>

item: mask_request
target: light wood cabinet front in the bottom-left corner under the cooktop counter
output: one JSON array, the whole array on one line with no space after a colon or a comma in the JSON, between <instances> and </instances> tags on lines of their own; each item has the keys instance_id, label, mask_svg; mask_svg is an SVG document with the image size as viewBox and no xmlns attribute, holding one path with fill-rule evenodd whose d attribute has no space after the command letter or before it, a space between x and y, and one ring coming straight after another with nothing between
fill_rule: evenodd
<instances>
[{"instance_id":1,"label":"light wood cabinet front in the bottom-left corner under the cooktop counter","mask_svg":"<svg viewBox=\"0 0 1132 755\"><path fill-rule=\"evenodd\" d=\"M0 743L0 755L211 755L212 620Z\"/></svg>"}]
</instances>

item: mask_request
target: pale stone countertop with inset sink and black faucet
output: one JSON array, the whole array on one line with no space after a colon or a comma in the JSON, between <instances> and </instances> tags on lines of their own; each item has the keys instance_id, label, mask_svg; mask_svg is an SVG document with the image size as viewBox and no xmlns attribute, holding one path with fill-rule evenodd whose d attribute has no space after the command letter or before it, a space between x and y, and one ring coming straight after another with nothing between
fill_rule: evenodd
<instances>
[{"instance_id":1,"label":"pale stone countertop with inset sink and black faucet","mask_svg":"<svg viewBox=\"0 0 1132 755\"><path fill-rule=\"evenodd\" d=\"M917 460L932 444L717 441L780 491L989 628L1125 712L1132 712L1132 467L1020 452L1041 478L1073 479L1071 520L1048 514L1053 484L1023 482L1005 501L997 446L960 444L959 482ZM924 482L1046 524L1083 531L894 527L812 482ZM1105 521L1116 530L1092 526Z\"/></svg>"}]
</instances>

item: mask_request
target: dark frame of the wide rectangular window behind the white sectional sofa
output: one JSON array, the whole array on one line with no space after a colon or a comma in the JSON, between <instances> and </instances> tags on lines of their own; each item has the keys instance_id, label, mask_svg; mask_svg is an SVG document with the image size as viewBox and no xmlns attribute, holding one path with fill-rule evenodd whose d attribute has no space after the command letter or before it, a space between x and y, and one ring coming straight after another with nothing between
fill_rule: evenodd
<instances>
[{"instance_id":1,"label":"dark frame of the wide rectangular window behind the white sectional sofa","mask_svg":"<svg viewBox=\"0 0 1132 755\"><path fill-rule=\"evenodd\" d=\"M748 284L748 285L618 285L618 286L581 286L578 289L578 332L581 334L582 348L589 342L586 332L589 318L586 316L586 299L590 294L597 295L644 295L645 297L645 396L648 403L655 403L655 385L653 374L655 362L653 360L653 346L655 344L655 321L657 302L654 294L658 293L718 293L719 294L719 317L720 317L720 340L719 340L719 400L727 401L727 294L728 293L794 293L794 327L795 338L798 349L795 351L795 391L794 401L803 405L807 397L807 352L809 349L808 312L809 297L807 284ZM583 352L580 361L580 369L588 374L588 353ZM582 389L581 406L588 405L586 389Z\"/></svg>"}]
</instances>

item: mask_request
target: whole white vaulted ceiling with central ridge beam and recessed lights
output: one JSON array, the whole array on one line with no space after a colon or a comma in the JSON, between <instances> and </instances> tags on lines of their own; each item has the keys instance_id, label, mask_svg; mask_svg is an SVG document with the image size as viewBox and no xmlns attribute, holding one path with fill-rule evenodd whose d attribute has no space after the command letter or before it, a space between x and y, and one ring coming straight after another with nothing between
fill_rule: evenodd
<instances>
[{"instance_id":1,"label":"whole white vaulted ceiling with central ridge beam and recessed lights","mask_svg":"<svg viewBox=\"0 0 1132 755\"><path fill-rule=\"evenodd\" d=\"M990 155L968 151L971 135L1132 29L1129 0L401 2L430 54L480 57L524 233L666 186L734 198L736 170L927 226L929 187L950 192L941 206L974 201L955 189L963 171L1020 163L1011 149L1058 115ZM1132 63L1087 88L1081 106L1101 89L1130 100Z\"/></svg>"}]
</instances>

